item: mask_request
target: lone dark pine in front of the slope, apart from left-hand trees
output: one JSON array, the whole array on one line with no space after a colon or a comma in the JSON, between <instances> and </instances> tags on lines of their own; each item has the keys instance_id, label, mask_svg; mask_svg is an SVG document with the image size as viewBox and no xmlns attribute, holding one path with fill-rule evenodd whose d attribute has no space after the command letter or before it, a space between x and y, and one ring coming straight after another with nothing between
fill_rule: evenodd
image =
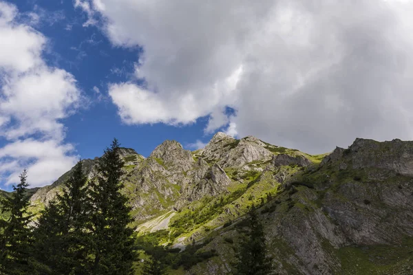
<instances>
[{"instance_id":1,"label":"lone dark pine in front of the slope, apart from left-hand trees","mask_svg":"<svg viewBox=\"0 0 413 275\"><path fill-rule=\"evenodd\" d=\"M237 254L235 273L237 275L272 274L271 259L266 255L266 243L262 223L257 217L255 208L249 213L249 236L241 245Z\"/></svg>"}]
</instances>

